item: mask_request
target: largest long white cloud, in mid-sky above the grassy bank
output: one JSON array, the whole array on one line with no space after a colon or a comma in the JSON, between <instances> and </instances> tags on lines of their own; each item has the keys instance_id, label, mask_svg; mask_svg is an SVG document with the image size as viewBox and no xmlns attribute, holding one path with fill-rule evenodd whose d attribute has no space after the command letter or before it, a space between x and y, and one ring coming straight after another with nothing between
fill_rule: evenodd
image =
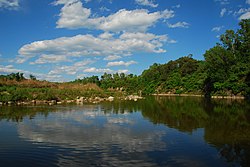
<instances>
[{"instance_id":1,"label":"largest long white cloud, in mid-sky above the grassy bank","mask_svg":"<svg viewBox=\"0 0 250 167\"><path fill-rule=\"evenodd\" d=\"M34 64L43 64L68 61L72 57L82 56L126 56L135 52L163 53L165 50L162 47L165 42L176 41L169 39L167 35L128 32L117 38L111 38L107 33L98 37L88 34L61 37L22 46L16 62L24 63L32 57L39 57Z\"/></svg>"}]
</instances>

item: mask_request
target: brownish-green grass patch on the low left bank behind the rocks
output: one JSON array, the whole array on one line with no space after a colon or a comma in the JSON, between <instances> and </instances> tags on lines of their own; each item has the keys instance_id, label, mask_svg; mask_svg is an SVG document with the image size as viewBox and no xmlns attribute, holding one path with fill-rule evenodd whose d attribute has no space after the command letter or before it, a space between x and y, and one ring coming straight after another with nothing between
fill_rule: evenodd
<instances>
[{"instance_id":1,"label":"brownish-green grass patch on the low left bank behind the rocks","mask_svg":"<svg viewBox=\"0 0 250 167\"><path fill-rule=\"evenodd\" d=\"M73 100L77 97L108 97L115 92L104 91L93 83L54 83L25 79L0 79L0 101Z\"/></svg>"}]
</instances>

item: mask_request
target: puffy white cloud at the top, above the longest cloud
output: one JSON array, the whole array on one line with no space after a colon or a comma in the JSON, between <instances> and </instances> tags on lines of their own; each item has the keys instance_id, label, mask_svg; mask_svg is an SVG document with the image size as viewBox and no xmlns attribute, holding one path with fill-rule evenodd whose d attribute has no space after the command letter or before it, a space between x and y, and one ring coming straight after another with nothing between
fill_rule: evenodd
<instances>
[{"instance_id":1,"label":"puffy white cloud at the top, above the longest cloud","mask_svg":"<svg viewBox=\"0 0 250 167\"><path fill-rule=\"evenodd\" d=\"M91 17L91 10L84 8L79 0L71 0L71 3L60 0L55 5L63 4L57 21L57 28L88 28L103 31L146 31L153 26L159 19L169 19L174 17L174 11L164 10L162 12L150 13L145 9L126 10L107 17Z\"/></svg>"}]
</instances>

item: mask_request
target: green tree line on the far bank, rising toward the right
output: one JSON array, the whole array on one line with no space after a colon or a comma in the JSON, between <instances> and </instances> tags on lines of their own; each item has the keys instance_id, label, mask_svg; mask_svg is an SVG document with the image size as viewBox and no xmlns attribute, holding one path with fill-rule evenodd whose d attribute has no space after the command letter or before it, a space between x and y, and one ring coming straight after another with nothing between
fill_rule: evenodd
<instances>
[{"instance_id":1,"label":"green tree line on the far bank, rising toward the right","mask_svg":"<svg viewBox=\"0 0 250 167\"><path fill-rule=\"evenodd\" d=\"M204 60L192 54L165 64L153 64L137 76L134 74L104 73L76 79L71 83L94 83L104 90L128 94L204 94L223 96L250 95L250 19L242 20L237 31L227 30L220 43L207 50ZM22 73L0 78L25 79ZM30 75L30 79L36 77Z\"/></svg>"}]
</instances>

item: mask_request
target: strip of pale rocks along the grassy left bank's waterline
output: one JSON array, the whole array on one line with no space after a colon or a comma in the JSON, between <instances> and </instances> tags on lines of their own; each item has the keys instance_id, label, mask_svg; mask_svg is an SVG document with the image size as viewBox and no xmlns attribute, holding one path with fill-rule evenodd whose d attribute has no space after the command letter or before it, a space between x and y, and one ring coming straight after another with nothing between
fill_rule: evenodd
<instances>
[{"instance_id":1,"label":"strip of pale rocks along the grassy left bank's waterline","mask_svg":"<svg viewBox=\"0 0 250 167\"><path fill-rule=\"evenodd\" d=\"M1 105L60 105L60 104L84 104L84 103L92 103L97 104L103 101L112 102L114 100L130 100L130 101L138 101L140 99L144 99L144 97L137 96L137 95L128 95L125 97L118 97L115 98L113 96L109 96L106 98L102 97L77 97L74 100L31 100L31 101L8 101L8 102L0 102Z\"/></svg>"}]
</instances>

